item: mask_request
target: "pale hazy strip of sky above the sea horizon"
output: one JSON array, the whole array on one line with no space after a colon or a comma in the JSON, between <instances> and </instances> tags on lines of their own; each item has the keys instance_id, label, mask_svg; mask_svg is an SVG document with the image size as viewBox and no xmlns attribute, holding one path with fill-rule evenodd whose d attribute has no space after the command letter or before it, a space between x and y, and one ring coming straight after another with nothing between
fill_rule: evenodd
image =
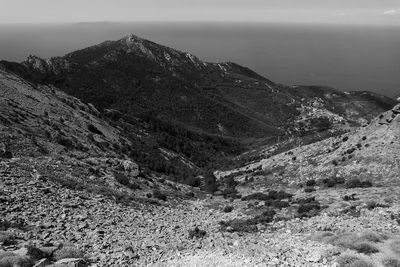
<instances>
[{"instance_id":1,"label":"pale hazy strip of sky above the sea horizon","mask_svg":"<svg viewBox=\"0 0 400 267\"><path fill-rule=\"evenodd\" d=\"M244 21L400 25L399 0L0 0L0 24Z\"/></svg>"}]
</instances>

